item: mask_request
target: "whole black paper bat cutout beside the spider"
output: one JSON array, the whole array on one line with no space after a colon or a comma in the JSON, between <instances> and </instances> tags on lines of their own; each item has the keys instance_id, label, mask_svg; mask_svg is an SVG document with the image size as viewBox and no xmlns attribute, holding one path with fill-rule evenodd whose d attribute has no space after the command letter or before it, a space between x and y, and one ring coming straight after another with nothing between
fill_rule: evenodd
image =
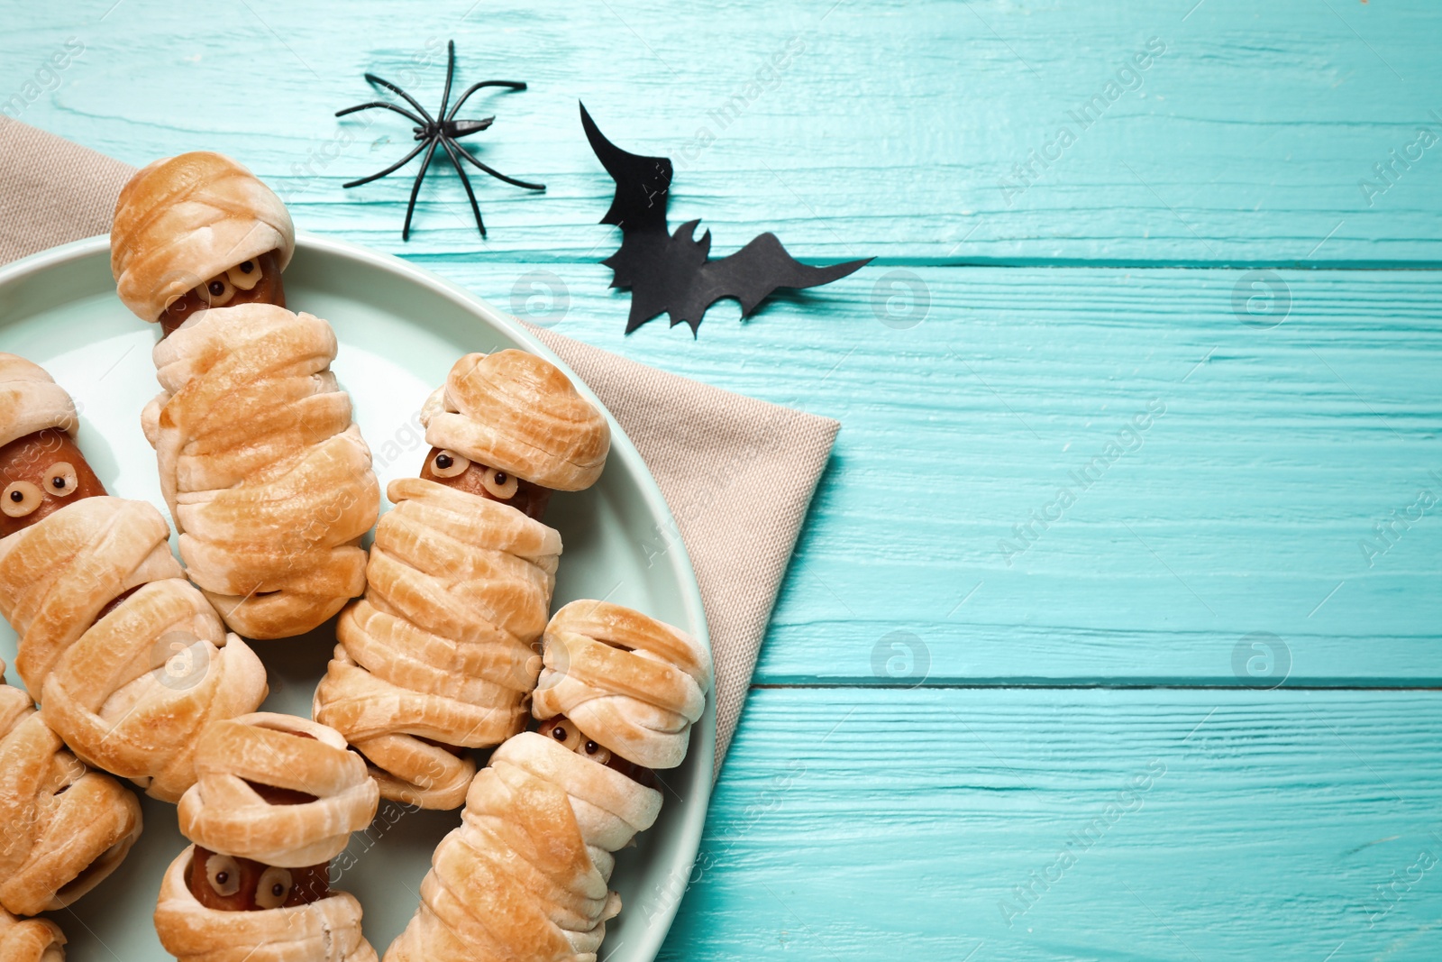
<instances>
[{"instance_id":1,"label":"whole black paper bat cutout beside the spider","mask_svg":"<svg viewBox=\"0 0 1442 962\"><path fill-rule=\"evenodd\" d=\"M711 231L699 241L694 238L701 221L688 221L675 234L666 228L666 199L675 176L671 160L622 150L601 134L585 104L581 125L616 182L616 198L601 224L622 229L622 247L601 262L614 274L611 287L632 291L626 333L666 313L672 327L685 322L695 336L702 316L722 297L741 301L741 316L748 317L777 288L829 284L872 260L812 267L787 254L774 234L761 234L735 254L712 261Z\"/></svg>"}]
</instances>

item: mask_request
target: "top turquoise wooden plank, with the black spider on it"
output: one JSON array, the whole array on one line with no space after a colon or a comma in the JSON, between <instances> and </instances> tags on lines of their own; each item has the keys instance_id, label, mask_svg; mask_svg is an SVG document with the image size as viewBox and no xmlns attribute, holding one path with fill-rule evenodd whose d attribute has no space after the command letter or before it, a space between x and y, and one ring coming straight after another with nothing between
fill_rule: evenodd
<instances>
[{"instance_id":1,"label":"top turquoise wooden plank, with the black spider on it","mask_svg":"<svg viewBox=\"0 0 1442 962\"><path fill-rule=\"evenodd\" d=\"M229 151L301 226L382 250L584 260L610 242L584 98L617 143L678 160L673 222L704 216L717 252L770 228L823 260L1442 261L1442 160L1417 133L1442 137L1426 0L112 6L13 12L10 112L131 163ZM85 52L52 75L69 37ZM437 172L402 245L410 183L340 183L402 156L408 123L332 112L368 97L366 69L434 107L447 37L463 79L531 82L473 101L497 117L474 143L549 190L480 185L482 242Z\"/></svg>"}]
</instances>

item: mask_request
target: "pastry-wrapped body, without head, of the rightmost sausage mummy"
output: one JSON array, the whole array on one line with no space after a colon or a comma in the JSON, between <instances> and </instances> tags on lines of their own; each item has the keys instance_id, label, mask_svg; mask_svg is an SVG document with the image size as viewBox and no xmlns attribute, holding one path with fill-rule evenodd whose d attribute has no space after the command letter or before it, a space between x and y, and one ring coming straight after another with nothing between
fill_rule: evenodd
<instances>
[{"instance_id":1,"label":"pastry-wrapped body, without head, of the rightmost sausage mummy","mask_svg":"<svg viewBox=\"0 0 1442 962\"><path fill-rule=\"evenodd\" d=\"M660 792L547 736L515 736L472 782L385 961L596 962L620 912L611 852L659 812Z\"/></svg>"}]
</instances>

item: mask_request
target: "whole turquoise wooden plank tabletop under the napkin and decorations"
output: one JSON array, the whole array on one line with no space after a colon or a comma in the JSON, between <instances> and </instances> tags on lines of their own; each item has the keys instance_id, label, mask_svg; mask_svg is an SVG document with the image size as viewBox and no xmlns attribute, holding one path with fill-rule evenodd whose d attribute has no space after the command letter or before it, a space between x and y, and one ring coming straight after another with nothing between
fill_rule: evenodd
<instances>
[{"instance_id":1,"label":"whole turquoise wooden plank tabletop under the napkin and decorations","mask_svg":"<svg viewBox=\"0 0 1442 962\"><path fill-rule=\"evenodd\" d=\"M340 183L407 124L332 111L438 100L448 37L532 85L483 157L549 190L479 183L482 242L440 173L402 244L408 180ZM1439 959L1439 39L1425 0L98 0L10 4L0 94L841 420L665 958ZM624 337L577 98L718 252L877 261Z\"/></svg>"}]
</instances>

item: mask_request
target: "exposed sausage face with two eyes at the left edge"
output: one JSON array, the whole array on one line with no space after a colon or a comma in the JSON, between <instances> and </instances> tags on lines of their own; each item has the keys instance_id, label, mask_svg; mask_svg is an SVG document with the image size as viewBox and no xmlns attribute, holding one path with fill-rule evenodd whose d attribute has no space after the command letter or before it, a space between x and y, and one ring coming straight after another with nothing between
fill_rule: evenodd
<instances>
[{"instance_id":1,"label":"exposed sausage face with two eyes at the left edge","mask_svg":"<svg viewBox=\"0 0 1442 962\"><path fill-rule=\"evenodd\" d=\"M0 538L105 493L71 436L53 427L0 447Z\"/></svg>"}]
</instances>

